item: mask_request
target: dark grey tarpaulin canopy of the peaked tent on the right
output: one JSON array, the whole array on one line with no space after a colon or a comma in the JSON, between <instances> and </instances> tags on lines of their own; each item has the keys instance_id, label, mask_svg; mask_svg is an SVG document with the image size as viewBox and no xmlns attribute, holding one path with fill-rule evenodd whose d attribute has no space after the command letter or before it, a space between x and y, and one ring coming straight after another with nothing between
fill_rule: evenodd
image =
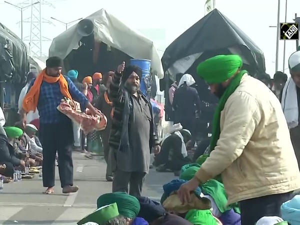
<instances>
[{"instance_id":1,"label":"dark grey tarpaulin canopy of the peaked tent on the right","mask_svg":"<svg viewBox=\"0 0 300 225\"><path fill-rule=\"evenodd\" d=\"M264 56L259 47L231 20L217 9L201 18L164 51L164 72L171 80L186 72L195 61L200 63L218 54L239 54L244 68L253 76L265 71ZM200 59L200 60L197 60ZM195 69L192 71L195 74Z\"/></svg>"}]
</instances>

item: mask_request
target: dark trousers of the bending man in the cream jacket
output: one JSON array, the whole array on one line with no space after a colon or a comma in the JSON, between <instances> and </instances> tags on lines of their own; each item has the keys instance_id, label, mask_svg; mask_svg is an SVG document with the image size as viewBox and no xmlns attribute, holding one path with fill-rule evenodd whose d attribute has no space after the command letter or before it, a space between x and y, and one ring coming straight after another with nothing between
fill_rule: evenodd
<instances>
[{"instance_id":1,"label":"dark trousers of the bending man in the cream jacket","mask_svg":"<svg viewBox=\"0 0 300 225\"><path fill-rule=\"evenodd\" d=\"M280 206L290 200L292 191L255 197L239 202L241 225L253 225L263 216L281 216Z\"/></svg>"}]
</instances>

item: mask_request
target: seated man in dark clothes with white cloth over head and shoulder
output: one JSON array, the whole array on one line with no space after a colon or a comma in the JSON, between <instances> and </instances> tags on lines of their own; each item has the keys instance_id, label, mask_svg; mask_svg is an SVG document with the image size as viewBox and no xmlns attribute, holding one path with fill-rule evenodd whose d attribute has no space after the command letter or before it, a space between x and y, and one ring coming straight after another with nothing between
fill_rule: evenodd
<instances>
[{"instance_id":1,"label":"seated man in dark clothes with white cloth over head and shoulder","mask_svg":"<svg viewBox=\"0 0 300 225\"><path fill-rule=\"evenodd\" d=\"M190 162L187 156L187 150L192 147L190 140L190 132L182 129L180 123L174 124L170 129L170 135L161 141L159 154L155 155L154 164L160 165L156 170L178 173L183 165Z\"/></svg>"}]
</instances>

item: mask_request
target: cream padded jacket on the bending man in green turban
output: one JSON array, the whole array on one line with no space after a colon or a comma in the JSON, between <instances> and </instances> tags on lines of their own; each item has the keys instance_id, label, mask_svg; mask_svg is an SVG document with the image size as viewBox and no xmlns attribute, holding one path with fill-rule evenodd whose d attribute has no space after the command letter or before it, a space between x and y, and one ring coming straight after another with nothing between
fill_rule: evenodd
<instances>
[{"instance_id":1,"label":"cream padded jacket on the bending man in green turban","mask_svg":"<svg viewBox=\"0 0 300 225\"><path fill-rule=\"evenodd\" d=\"M281 105L245 74L220 116L220 137L196 176L222 175L228 203L300 188L300 172ZM300 135L299 135L300 138Z\"/></svg>"}]
</instances>

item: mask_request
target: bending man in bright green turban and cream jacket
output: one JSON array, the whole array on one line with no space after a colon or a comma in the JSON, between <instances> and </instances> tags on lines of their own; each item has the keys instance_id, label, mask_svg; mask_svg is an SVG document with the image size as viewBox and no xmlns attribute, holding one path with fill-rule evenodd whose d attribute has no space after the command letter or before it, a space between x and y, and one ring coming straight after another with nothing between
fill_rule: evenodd
<instances>
[{"instance_id":1,"label":"bending man in bright green turban and cream jacket","mask_svg":"<svg viewBox=\"0 0 300 225\"><path fill-rule=\"evenodd\" d=\"M227 204L239 202L241 224L253 225L280 216L280 205L300 188L300 172L280 102L241 67L238 55L217 55L197 66L219 103L209 157L178 195L184 203L200 183L221 174Z\"/></svg>"}]
</instances>

